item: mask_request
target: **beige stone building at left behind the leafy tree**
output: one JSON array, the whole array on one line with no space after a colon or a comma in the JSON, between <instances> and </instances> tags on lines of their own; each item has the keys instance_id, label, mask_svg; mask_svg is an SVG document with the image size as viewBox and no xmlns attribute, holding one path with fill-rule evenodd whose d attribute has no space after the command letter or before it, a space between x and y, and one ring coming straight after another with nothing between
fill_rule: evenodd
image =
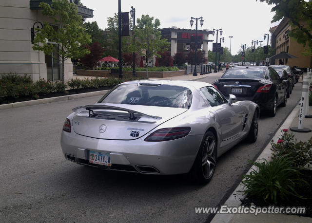
<instances>
[{"instance_id":1,"label":"beige stone building at left behind the leafy tree","mask_svg":"<svg viewBox=\"0 0 312 223\"><path fill-rule=\"evenodd\" d=\"M28 74L34 81L39 78L61 79L62 66L59 60L54 58L58 56L58 45L55 45L54 55L44 55L43 52L32 49L34 44L31 41L31 28L37 28L44 21L55 25L53 21L41 15L39 8L41 1L48 4L52 2L52 0L0 0L0 74ZM78 14L84 18L92 18L93 10L78 6ZM71 79L73 77L71 60L67 60L64 65L65 79Z\"/></svg>"}]
</instances>

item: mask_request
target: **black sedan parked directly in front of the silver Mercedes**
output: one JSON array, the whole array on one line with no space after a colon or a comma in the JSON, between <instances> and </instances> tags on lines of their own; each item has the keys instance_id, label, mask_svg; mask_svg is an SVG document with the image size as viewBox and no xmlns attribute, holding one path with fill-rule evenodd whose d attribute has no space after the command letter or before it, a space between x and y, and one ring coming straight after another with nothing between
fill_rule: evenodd
<instances>
[{"instance_id":1,"label":"black sedan parked directly in front of the silver Mercedes","mask_svg":"<svg viewBox=\"0 0 312 223\"><path fill-rule=\"evenodd\" d=\"M287 104L286 83L271 67L233 67L213 84L226 97L234 94L239 101L254 101L270 116L275 116L278 105Z\"/></svg>"}]
</instances>

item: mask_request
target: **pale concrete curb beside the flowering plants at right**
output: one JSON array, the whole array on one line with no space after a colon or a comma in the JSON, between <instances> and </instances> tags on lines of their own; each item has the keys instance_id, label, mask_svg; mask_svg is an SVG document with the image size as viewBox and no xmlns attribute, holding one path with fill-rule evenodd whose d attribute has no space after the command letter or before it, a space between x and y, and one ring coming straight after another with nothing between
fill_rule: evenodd
<instances>
[{"instance_id":1,"label":"pale concrete curb beside the flowering plants at right","mask_svg":"<svg viewBox=\"0 0 312 223\"><path fill-rule=\"evenodd\" d=\"M272 137L272 139L270 140L270 142L268 143L268 145L263 149L263 151L261 152L261 154L256 158L255 161L259 161L262 160L263 158L265 159L269 159L269 157L272 154L271 151L271 141L277 141L278 137L281 134L281 130L283 129L289 129L289 127L292 124L293 119L295 118L295 116L297 115L298 111L300 110L300 105L297 104L294 109L292 110L292 112L288 115L288 117L286 118L286 120L283 122L283 124L280 126L280 128L276 131L275 135ZM255 166L252 166L248 172L246 173L246 175L250 174L250 172L252 171L252 169L256 169ZM226 200L226 202L223 205L228 205L228 206L240 206L242 203L240 202L240 199L243 199L246 197L246 194L244 194L243 192L239 192L239 191L244 191L244 186L242 185L242 183L240 183L233 191L233 193L230 195L230 197ZM215 214L215 217L212 219L211 223L229 223L233 220L234 214Z\"/></svg>"}]
</instances>

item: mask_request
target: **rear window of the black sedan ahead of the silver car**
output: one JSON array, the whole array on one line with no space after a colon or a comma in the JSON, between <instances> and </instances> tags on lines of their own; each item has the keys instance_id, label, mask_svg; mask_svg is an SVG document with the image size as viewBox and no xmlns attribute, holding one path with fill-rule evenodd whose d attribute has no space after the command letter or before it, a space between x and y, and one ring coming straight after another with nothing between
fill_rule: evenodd
<instances>
[{"instance_id":1,"label":"rear window of the black sedan ahead of the silver car","mask_svg":"<svg viewBox=\"0 0 312 223\"><path fill-rule=\"evenodd\" d=\"M227 70L222 78L263 78L265 70L243 70L243 69L230 69Z\"/></svg>"}]
</instances>

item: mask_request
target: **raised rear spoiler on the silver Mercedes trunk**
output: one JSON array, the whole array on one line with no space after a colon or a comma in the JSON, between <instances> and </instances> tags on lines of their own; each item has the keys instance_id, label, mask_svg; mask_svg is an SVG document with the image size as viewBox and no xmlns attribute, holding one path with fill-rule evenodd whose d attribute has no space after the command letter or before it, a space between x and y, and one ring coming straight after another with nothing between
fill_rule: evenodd
<instances>
[{"instance_id":1,"label":"raised rear spoiler on the silver Mercedes trunk","mask_svg":"<svg viewBox=\"0 0 312 223\"><path fill-rule=\"evenodd\" d=\"M79 106L77 108L74 108L72 111L79 112L79 111L84 111L84 110L89 111L89 117L94 117L94 115L95 115L94 110L117 110L117 111L129 112L130 120L136 119L134 114L147 116L147 117L150 117L153 119L161 119L161 117L158 117L158 116L152 116L152 115L144 114L144 113L139 112L139 111L134 111L134 110L120 108L120 107L116 107L116 106L110 106L110 105L84 105L84 106Z\"/></svg>"}]
</instances>

